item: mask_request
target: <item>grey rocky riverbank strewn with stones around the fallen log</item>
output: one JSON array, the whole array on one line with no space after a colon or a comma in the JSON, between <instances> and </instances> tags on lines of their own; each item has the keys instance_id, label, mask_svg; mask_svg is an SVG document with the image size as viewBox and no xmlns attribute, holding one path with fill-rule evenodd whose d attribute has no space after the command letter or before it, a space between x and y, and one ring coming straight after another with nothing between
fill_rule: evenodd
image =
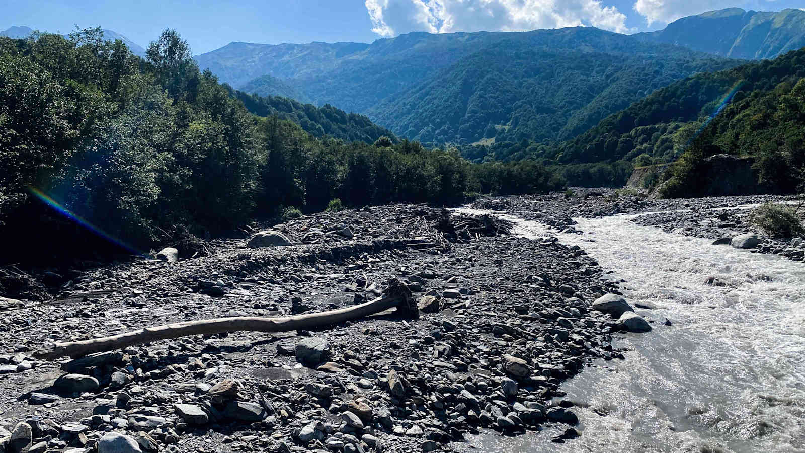
<instances>
[{"instance_id":1,"label":"grey rocky riverbank strewn with stones around the fallen log","mask_svg":"<svg viewBox=\"0 0 805 453\"><path fill-rule=\"evenodd\" d=\"M443 219L423 206L318 214L274 227L295 245L221 241L210 256L99 267L52 300L6 301L6 451L431 451L477 430L545 424L565 426L557 442L578 435L561 381L621 357L613 334L648 325L615 296L592 305L617 282L579 247ZM345 308L393 279L419 318L392 310L316 330L35 357L55 340L142 326Z\"/></svg>"}]
</instances>

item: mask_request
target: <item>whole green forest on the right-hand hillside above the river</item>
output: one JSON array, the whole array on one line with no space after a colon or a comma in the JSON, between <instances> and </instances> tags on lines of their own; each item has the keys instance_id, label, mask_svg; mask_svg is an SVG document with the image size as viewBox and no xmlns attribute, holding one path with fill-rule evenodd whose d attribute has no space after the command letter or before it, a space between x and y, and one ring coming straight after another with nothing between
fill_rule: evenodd
<instances>
[{"instance_id":1,"label":"whole green forest on the right-hand hillside above the river","mask_svg":"<svg viewBox=\"0 0 805 453\"><path fill-rule=\"evenodd\" d=\"M799 139L805 123L791 114L799 108L796 87L803 78L805 49L687 77L572 139L496 142L461 147L461 153L475 162L535 160L569 185L586 186L624 185L632 168L674 162L687 150L701 159L716 152L758 156L762 175L785 170L787 182L778 187L790 193L805 154ZM770 170L773 162L787 167Z\"/></svg>"}]
</instances>

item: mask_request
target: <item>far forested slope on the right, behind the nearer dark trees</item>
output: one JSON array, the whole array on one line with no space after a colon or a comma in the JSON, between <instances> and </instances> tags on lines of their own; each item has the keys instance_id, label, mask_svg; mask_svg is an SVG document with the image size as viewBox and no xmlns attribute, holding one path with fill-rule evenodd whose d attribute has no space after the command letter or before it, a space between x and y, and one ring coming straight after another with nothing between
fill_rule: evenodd
<instances>
[{"instance_id":1,"label":"far forested slope on the right, behind the nearer dark trees","mask_svg":"<svg viewBox=\"0 0 805 453\"><path fill-rule=\"evenodd\" d=\"M711 116L720 124L722 116L729 117L727 112L769 102L778 86L793 86L802 77L805 48L775 60L697 74L658 89L574 139L544 146L534 154L560 163L633 160L641 155L650 157L641 164L671 161Z\"/></svg>"}]
</instances>

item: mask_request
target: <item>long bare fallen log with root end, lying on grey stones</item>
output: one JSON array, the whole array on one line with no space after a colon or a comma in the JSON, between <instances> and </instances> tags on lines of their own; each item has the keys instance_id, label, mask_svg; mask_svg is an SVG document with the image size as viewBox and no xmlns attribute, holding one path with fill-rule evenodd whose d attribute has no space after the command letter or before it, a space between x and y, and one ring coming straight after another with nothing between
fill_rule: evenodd
<instances>
[{"instance_id":1,"label":"long bare fallen log with root end, lying on grey stones","mask_svg":"<svg viewBox=\"0 0 805 453\"><path fill-rule=\"evenodd\" d=\"M188 335L213 335L224 332L287 332L307 330L316 327L332 326L339 322L353 321L396 308L408 318L419 318L419 310L411 295L411 290L401 281L393 280L383 292L382 297L361 305L321 313L299 314L284 318L256 318L237 316L233 318L202 319L200 321L175 322L165 326L146 327L125 334L98 339L52 343L34 351L38 359L54 360L61 357L73 359L97 352L114 351L142 343L163 339L177 339Z\"/></svg>"}]
</instances>

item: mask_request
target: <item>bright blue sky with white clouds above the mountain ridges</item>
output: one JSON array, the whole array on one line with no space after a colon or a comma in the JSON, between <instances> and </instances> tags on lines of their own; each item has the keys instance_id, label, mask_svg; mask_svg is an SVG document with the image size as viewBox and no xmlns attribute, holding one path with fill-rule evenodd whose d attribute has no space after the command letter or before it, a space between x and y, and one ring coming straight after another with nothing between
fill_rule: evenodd
<instances>
[{"instance_id":1,"label":"bright blue sky with white clouds above the mountain ridges","mask_svg":"<svg viewBox=\"0 0 805 453\"><path fill-rule=\"evenodd\" d=\"M685 15L739 6L805 7L805 0L2 0L0 30L13 25L72 31L100 25L146 47L165 27L195 53L231 41L371 42L409 31L532 30L592 25L633 33Z\"/></svg>"}]
</instances>

